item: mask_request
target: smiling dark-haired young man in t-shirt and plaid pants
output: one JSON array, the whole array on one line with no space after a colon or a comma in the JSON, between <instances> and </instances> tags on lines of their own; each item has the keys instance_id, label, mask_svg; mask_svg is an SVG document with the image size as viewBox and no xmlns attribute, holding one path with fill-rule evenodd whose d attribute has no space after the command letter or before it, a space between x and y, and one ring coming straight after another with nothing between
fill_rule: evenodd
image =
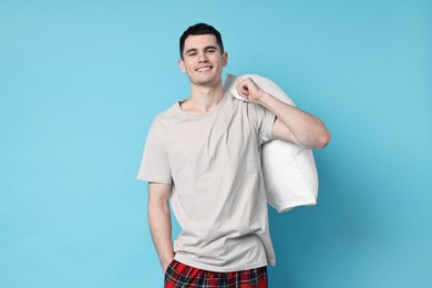
<instances>
[{"instance_id":1,"label":"smiling dark-haired young man in t-shirt and plaid pants","mask_svg":"<svg viewBox=\"0 0 432 288\"><path fill-rule=\"evenodd\" d=\"M148 222L165 287L267 287L275 265L259 147L271 138L322 148L316 116L237 83L250 103L224 92L228 62L219 32L198 23L181 37L191 96L157 115L138 178L148 182ZM168 200L182 232L172 243Z\"/></svg>"}]
</instances>

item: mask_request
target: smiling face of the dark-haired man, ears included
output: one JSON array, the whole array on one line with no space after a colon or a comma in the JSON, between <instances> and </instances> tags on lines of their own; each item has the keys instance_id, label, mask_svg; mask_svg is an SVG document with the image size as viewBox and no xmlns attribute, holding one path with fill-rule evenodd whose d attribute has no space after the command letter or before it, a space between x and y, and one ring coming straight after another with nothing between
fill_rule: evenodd
<instances>
[{"instance_id":1,"label":"smiling face of the dark-haired man, ears included","mask_svg":"<svg viewBox=\"0 0 432 288\"><path fill-rule=\"evenodd\" d=\"M185 40L179 68L192 84L212 86L222 81L222 71L228 62L212 34L189 35Z\"/></svg>"}]
</instances>

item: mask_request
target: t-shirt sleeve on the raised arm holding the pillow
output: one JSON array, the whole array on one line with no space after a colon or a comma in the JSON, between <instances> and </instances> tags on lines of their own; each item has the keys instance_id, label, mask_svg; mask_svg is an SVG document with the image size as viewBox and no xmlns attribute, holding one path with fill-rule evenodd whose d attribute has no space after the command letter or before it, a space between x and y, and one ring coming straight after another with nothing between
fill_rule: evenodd
<instances>
[{"instance_id":1,"label":"t-shirt sleeve on the raised arm holding the pillow","mask_svg":"<svg viewBox=\"0 0 432 288\"><path fill-rule=\"evenodd\" d=\"M254 122L259 136L259 145L275 138L271 134L276 115L259 104L248 104L249 116Z\"/></svg>"}]
</instances>

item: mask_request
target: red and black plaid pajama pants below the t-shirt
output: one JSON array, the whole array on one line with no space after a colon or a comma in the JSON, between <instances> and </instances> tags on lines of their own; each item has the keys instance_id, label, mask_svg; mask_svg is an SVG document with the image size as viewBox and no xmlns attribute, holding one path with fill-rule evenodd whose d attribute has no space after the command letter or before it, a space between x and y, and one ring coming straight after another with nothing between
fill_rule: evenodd
<instances>
[{"instance_id":1,"label":"red and black plaid pajama pants below the t-shirt","mask_svg":"<svg viewBox=\"0 0 432 288\"><path fill-rule=\"evenodd\" d=\"M213 272L173 260L165 272L165 288L267 288L267 267L235 272Z\"/></svg>"}]
</instances>

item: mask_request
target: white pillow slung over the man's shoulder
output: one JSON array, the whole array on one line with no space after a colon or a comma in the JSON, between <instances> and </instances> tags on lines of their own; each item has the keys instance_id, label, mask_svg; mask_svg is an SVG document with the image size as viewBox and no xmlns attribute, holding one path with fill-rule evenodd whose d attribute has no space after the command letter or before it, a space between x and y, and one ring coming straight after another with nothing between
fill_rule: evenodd
<instances>
[{"instance_id":1,"label":"white pillow slung over the man's shoulder","mask_svg":"<svg viewBox=\"0 0 432 288\"><path fill-rule=\"evenodd\" d=\"M257 74L227 74L225 91L236 99L246 101L236 90L237 80L245 78L251 78L263 91L295 106L277 84ZM296 206L317 204L318 173L310 150L281 140L272 140L263 145L261 165L267 202L275 209L287 212Z\"/></svg>"}]
</instances>

